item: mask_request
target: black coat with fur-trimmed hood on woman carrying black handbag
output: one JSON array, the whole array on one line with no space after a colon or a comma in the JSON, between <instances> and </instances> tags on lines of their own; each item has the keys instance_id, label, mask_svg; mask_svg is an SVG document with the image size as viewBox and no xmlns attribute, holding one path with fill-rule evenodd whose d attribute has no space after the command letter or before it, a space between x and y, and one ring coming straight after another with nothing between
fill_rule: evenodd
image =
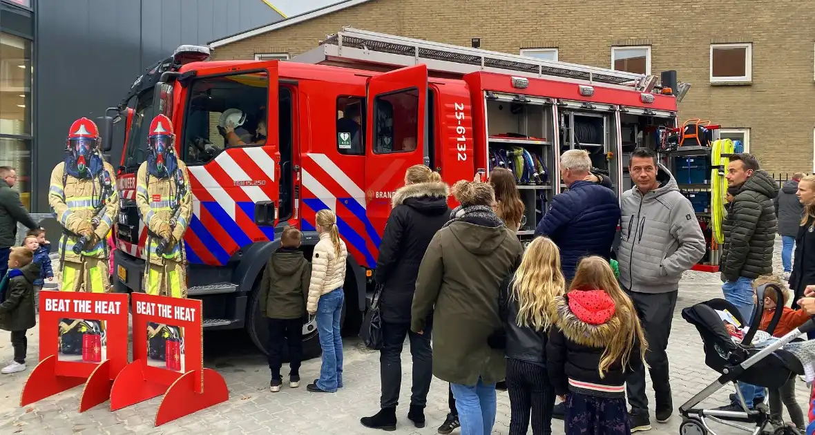
<instances>
[{"instance_id":1,"label":"black coat with fur-trimmed hood on woman carrying black handbag","mask_svg":"<svg viewBox=\"0 0 815 435\"><path fill-rule=\"evenodd\" d=\"M377 284L382 320L410 323L413 292L427 245L450 220L449 188L443 182L408 184L394 194L385 233L379 245Z\"/></svg>"}]
</instances>

